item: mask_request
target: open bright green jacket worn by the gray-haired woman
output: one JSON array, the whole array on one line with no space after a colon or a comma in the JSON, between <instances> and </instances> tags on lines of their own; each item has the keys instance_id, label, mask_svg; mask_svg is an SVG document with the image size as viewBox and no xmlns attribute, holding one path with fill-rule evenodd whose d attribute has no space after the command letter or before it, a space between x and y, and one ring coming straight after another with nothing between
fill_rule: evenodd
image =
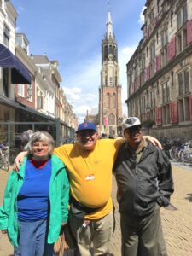
<instances>
[{"instance_id":1,"label":"open bright green jacket worn by the gray-haired woman","mask_svg":"<svg viewBox=\"0 0 192 256\"><path fill-rule=\"evenodd\" d=\"M3 206L0 207L0 230L8 230L9 241L13 246L18 245L17 196L24 182L25 169L26 158L19 172L10 173L4 192ZM57 156L51 155L48 243L54 243L58 239L61 223L67 223L68 199L69 183L65 166Z\"/></svg>"}]
</instances>

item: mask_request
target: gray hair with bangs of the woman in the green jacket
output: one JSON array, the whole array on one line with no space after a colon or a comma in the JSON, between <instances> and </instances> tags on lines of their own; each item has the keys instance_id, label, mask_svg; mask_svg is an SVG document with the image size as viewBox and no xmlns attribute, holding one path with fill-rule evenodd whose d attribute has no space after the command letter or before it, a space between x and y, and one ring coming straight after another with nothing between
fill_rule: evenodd
<instances>
[{"instance_id":1,"label":"gray hair with bangs of the woman in the green jacket","mask_svg":"<svg viewBox=\"0 0 192 256\"><path fill-rule=\"evenodd\" d=\"M37 142L45 142L49 144L49 154L52 154L55 148L55 141L53 137L47 131L36 131L30 137L27 143L27 154L33 154L32 145Z\"/></svg>"}]
</instances>

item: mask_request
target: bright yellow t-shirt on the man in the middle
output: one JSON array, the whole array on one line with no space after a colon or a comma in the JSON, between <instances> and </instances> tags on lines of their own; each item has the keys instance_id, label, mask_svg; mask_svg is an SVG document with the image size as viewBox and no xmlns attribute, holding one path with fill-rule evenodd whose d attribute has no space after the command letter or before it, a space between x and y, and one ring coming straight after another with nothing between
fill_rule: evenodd
<instances>
[{"instance_id":1,"label":"bright yellow t-shirt on the man in the middle","mask_svg":"<svg viewBox=\"0 0 192 256\"><path fill-rule=\"evenodd\" d=\"M91 151L81 148L79 143L65 144L54 150L67 166L71 195L86 207L100 207L86 218L102 218L113 208L112 168L116 151L123 141L97 140Z\"/></svg>"}]
</instances>

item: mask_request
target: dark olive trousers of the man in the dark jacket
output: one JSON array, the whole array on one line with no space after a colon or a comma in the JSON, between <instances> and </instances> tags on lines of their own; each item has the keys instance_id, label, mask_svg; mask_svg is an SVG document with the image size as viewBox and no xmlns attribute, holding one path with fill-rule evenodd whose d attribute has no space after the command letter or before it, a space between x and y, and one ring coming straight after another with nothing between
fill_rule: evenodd
<instances>
[{"instance_id":1,"label":"dark olive trousers of the man in the dark jacket","mask_svg":"<svg viewBox=\"0 0 192 256\"><path fill-rule=\"evenodd\" d=\"M167 256L160 207L144 217L121 213L122 256Z\"/></svg>"}]
</instances>

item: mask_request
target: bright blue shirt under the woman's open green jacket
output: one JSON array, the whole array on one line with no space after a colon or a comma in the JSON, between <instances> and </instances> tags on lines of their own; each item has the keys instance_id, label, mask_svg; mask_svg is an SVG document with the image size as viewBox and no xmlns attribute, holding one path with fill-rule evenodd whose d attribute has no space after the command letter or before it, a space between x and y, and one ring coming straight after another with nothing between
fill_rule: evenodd
<instances>
[{"instance_id":1,"label":"bright blue shirt under the woman's open green jacket","mask_svg":"<svg viewBox=\"0 0 192 256\"><path fill-rule=\"evenodd\" d=\"M26 161L25 179L17 197L19 219L36 220L48 217L50 176L50 160L41 168L33 166L30 160Z\"/></svg>"}]
</instances>

